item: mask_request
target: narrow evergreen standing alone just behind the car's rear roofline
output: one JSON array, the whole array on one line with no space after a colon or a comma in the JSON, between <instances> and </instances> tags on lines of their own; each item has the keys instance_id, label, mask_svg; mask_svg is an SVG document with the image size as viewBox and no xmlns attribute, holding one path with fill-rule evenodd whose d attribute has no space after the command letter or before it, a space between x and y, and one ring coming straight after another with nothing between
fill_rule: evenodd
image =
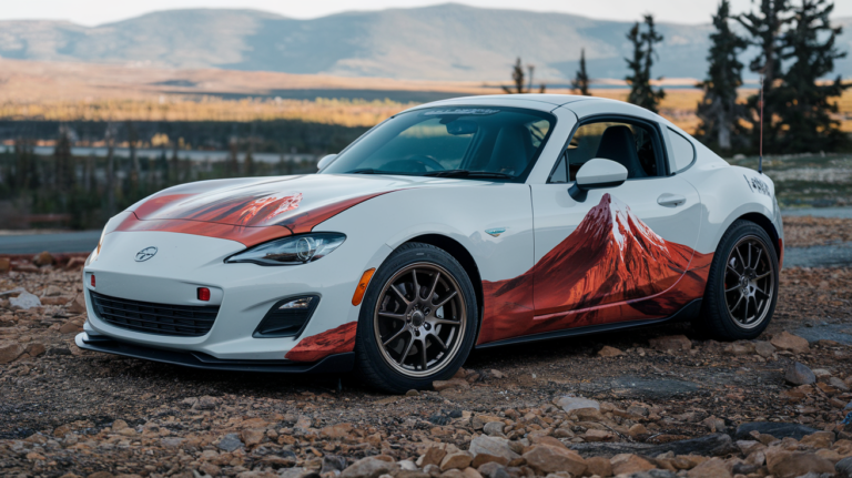
<instances>
[{"instance_id":1,"label":"narrow evergreen standing alone just behind the car's rear roofline","mask_svg":"<svg viewBox=\"0 0 852 478\"><path fill-rule=\"evenodd\" d=\"M657 33L653 16L645 16L645 26L646 31L641 31L640 23L636 22L627 33L627 39L633 45L633 58L625 59L631 71L631 74L625 78L630 85L627 101L657 113L660 101L666 98L666 92L662 89L655 91L651 88L651 68L655 57L653 45L662 41L662 35Z\"/></svg>"}]
</instances>

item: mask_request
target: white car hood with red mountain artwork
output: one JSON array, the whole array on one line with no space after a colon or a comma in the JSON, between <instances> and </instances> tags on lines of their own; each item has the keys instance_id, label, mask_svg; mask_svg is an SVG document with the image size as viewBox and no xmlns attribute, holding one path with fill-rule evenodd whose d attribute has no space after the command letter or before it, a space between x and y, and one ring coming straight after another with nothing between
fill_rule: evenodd
<instances>
[{"instance_id":1,"label":"white car hood with red mountain artwork","mask_svg":"<svg viewBox=\"0 0 852 478\"><path fill-rule=\"evenodd\" d=\"M474 182L351 174L203 181L170 187L132 205L128 209L132 214L118 231L170 231L253 245L310 232L323 221L383 194L462 183Z\"/></svg>"}]
</instances>

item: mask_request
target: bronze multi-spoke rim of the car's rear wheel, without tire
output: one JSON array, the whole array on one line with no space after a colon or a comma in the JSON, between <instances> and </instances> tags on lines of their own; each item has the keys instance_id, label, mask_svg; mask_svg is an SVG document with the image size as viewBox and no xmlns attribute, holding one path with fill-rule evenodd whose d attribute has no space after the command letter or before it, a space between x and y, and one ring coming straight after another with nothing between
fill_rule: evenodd
<instances>
[{"instance_id":1,"label":"bronze multi-spoke rim of the car's rear wheel, without tire","mask_svg":"<svg viewBox=\"0 0 852 478\"><path fill-rule=\"evenodd\" d=\"M737 242L728 255L724 301L739 327L754 328L767 318L775 281L769 254L759 237L749 235Z\"/></svg>"}]
</instances>

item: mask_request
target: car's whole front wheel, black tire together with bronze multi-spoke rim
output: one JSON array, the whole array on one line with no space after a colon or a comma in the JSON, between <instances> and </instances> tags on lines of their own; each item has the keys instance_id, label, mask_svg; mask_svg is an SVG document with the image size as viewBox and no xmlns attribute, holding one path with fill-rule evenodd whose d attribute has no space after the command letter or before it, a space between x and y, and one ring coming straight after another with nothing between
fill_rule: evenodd
<instances>
[{"instance_id":1,"label":"car's whole front wheel, black tire together with bronze multi-spoke rim","mask_svg":"<svg viewBox=\"0 0 852 478\"><path fill-rule=\"evenodd\" d=\"M355 363L362 380L402 394L450 378L474 346L475 297L464 267L446 251L422 243L394 251L361 305Z\"/></svg>"}]
</instances>

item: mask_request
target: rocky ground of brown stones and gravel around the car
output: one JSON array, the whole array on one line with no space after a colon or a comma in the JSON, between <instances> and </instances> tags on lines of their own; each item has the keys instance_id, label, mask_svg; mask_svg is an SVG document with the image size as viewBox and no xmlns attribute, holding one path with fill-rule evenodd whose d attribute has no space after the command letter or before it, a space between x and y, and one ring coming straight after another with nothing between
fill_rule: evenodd
<instances>
[{"instance_id":1,"label":"rocky ground of brown stones and gravel around the car","mask_svg":"<svg viewBox=\"0 0 852 478\"><path fill-rule=\"evenodd\" d=\"M797 245L838 231L813 221ZM784 269L757 340L667 324L487 349L387 396L80 350L80 261L0 258L0 476L852 476L849 268Z\"/></svg>"}]
</instances>

